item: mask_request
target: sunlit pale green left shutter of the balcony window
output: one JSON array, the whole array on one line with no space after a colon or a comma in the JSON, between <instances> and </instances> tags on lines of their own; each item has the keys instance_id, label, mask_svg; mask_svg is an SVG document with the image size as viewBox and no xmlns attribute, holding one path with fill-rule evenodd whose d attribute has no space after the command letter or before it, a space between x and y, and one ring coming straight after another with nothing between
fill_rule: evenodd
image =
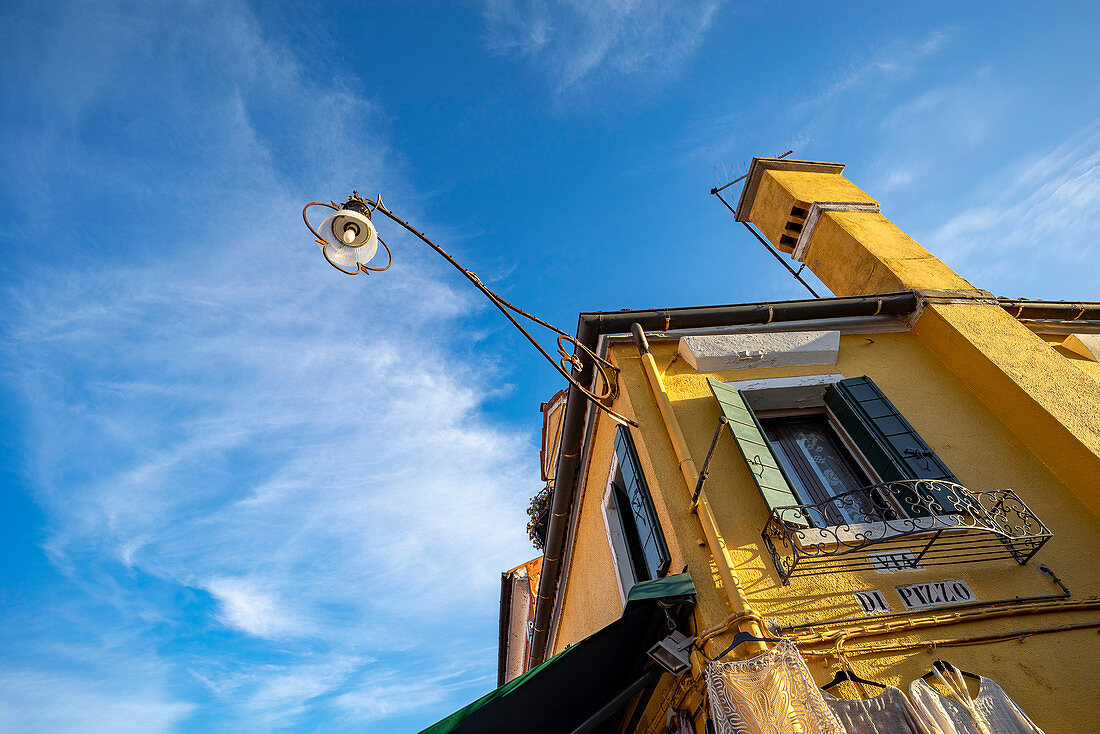
<instances>
[{"instance_id":1,"label":"sunlit pale green left shutter of the balcony window","mask_svg":"<svg viewBox=\"0 0 1100 734\"><path fill-rule=\"evenodd\" d=\"M745 396L717 380L707 377L706 383L718 401L722 415L729 421L726 425L729 426L734 441L749 465L749 471L768 510L802 504L794 494L794 487L787 478L787 472L776 459L771 445L765 438L760 421L745 402ZM789 524L807 526L804 519Z\"/></svg>"}]
</instances>

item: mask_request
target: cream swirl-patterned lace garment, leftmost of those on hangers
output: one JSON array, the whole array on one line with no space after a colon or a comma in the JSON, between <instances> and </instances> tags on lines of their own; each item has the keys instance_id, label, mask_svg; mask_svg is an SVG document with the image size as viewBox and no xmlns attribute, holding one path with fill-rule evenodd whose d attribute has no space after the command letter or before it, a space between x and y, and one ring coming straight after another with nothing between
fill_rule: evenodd
<instances>
[{"instance_id":1,"label":"cream swirl-patterned lace garment, leftmost of those on hangers","mask_svg":"<svg viewBox=\"0 0 1100 734\"><path fill-rule=\"evenodd\" d=\"M845 734L787 640L747 660L711 662L706 689L717 734Z\"/></svg>"}]
</instances>

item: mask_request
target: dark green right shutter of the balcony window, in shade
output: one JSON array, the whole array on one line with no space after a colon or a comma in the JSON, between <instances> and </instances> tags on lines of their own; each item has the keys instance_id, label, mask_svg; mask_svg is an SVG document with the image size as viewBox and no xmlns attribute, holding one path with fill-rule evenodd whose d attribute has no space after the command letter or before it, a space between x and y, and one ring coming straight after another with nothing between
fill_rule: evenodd
<instances>
[{"instance_id":1,"label":"dark green right shutter of the balcony window, in shade","mask_svg":"<svg viewBox=\"0 0 1100 734\"><path fill-rule=\"evenodd\" d=\"M870 377L848 377L829 385L825 391L825 405L848 431L883 482L935 479L958 483L952 470L924 442ZM937 500L945 513L959 502L959 497L950 492L943 493ZM924 511L910 514L927 516L932 513Z\"/></svg>"}]
</instances>

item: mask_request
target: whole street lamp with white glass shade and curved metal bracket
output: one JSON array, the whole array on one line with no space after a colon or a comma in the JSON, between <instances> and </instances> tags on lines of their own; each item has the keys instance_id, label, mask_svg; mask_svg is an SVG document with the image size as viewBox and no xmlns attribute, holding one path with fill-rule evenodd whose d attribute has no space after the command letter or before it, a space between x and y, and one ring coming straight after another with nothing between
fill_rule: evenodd
<instances>
[{"instance_id":1,"label":"whole street lamp with white glass shade and curved metal bracket","mask_svg":"<svg viewBox=\"0 0 1100 734\"><path fill-rule=\"evenodd\" d=\"M314 226L309 223L310 207L324 207L332 210L332 212L329 213L321 222L319 230L314 229ZM603 401L608 398L614 399L618 395L619 370L617 366L579 342L571 335L562 331L551 324L543 321L537 316L528 314L524 309L508 303L491 291L484 283L481 282L481 278L479 278L476 274L459 264L459 262L446 250L429 240L424 232L394 215L394 212L392 212L386 205L382 202L381 196L377 197L376 200L372 201L371 199L364 199L361 197L359 191L352 191L351 196L348 197L348 200L339 206L336 201L310 201L302 208L301 218L306 222L306 227L309 228L309 231L314 233L317 244L321 247L321 254L324 255L324 259L330 265L345 275L359 275L360 273L370 275L371 273L381 273L389 270L391 265L394 264L393 252L389 250L389 247L382 239L382 237L378 235L378 230L372 221L371 215L375 211L381 211L392 221L404 227L406 230L415 234L421 242L442 255L447 262L451 263L455 270L462 273L468 281L473 283L474 286L481 291L482 294L488 298L502 314L504 314L505 318L512 321L512 325L527 338L527 341L529 341L535 349L539 350L539 353L542 354L542 357L550 362L550 364L552 364L553 368L558 370L558 372L565 377L571 385L576 387L582 395L588 398L593 405L619 423L629 424L631 426L638 425L634 420L615 413L603 403ZM381 267L375 267L370 265L370 263L374 261L378 254L380 244L386 251L387 262ZM539 326L544 327L558 335L558 360L554 360L554 358L550 355L542 344L540 344L538 340L524 328L524 326L517 320L517 317L538 324ZM572 351L568 351L566 347L571 347ZM573 376L574 372L580 374L584 371L586 361L591 362L595 371L592 387L581 384L581 382Z\"/></svg>"}]
</instances>

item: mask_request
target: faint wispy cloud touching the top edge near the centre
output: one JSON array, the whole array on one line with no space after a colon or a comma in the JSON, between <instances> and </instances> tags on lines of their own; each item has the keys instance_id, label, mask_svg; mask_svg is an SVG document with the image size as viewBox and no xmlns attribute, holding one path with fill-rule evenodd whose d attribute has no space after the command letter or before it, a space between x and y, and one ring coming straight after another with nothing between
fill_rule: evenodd
<instances>
[{"instance_id":1,"label":"faint wispy cloud touching the top edge near the centre","mask_svg":"<svg viewBox=\"0 0 1100 734\"><path fill-rule=\"evenodd\" d=\"M483 40L492 53L534 59L559 94L640 75L651 86L692 56L722 4L486 0Z\"/></svg>"}]
</instances>

